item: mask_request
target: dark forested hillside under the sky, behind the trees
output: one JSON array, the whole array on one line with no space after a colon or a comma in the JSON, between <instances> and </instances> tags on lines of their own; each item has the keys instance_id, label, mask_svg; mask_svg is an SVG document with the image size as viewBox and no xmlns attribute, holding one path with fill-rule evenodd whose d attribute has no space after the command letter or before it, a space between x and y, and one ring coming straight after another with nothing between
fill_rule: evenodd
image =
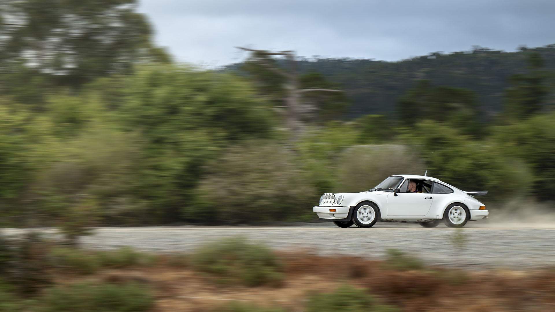
<instances>
[{"instance_id":1,"label":"dark forested hillside under the sky, behind the trees","mask_svg":"<svg viewBox=\"0 0 555 312\"><path fill-rule=\"evenodd\" d=\"M481 112L491 117L502 110L509 78L526 71L527 54L531 52L542 56L545 69L555 70L555 44L521 48L519 52L475 47L471 51L430 53L398 62L317 58L298 63L302 71L320 73L346 91L352 101L347 118L392 114L397 100L421 79L430 80L434 85L471 90L477 95ZM241 64L230 66L240 67Z\"/></svg>"}]
</instances>

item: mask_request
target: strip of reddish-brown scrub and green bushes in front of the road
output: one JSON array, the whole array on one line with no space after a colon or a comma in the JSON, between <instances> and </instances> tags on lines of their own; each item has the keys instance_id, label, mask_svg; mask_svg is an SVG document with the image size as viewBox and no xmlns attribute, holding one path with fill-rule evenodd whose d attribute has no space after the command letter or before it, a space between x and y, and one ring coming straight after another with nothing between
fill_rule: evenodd
<instances>
[{"instance_id":1,"label":"strip of reddish-brown scrub and green bushes in front of the road","mask_svg":"<svg viewBox=\"0 0 555 312\"><path fill-rule=\"evenodd\" d=\"M2 312L547 312L555 304L553 269L442 269L399 250L376 261L277 252L242 237L165 255L8 241Z\"/></svg>"}]
</instances>

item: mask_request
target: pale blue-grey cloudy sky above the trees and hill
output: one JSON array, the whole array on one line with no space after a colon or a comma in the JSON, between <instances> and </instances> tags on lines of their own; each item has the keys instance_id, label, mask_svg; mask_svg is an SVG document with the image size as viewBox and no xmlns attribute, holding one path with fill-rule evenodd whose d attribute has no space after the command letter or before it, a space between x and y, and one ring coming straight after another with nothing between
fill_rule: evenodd
<instances>
[{"instance_id":1,"label":"pale blue-grey cloudy sky above the trees and hill","mask_svg":"<svg viewBox=\"0 0 555 312\"><path fill-rule=\"evenodd\" d=\"M239 62L235 46L397 61L472 46L555 43L555 0L139 0L176 60Z\"/></svg>"}]
</instances>

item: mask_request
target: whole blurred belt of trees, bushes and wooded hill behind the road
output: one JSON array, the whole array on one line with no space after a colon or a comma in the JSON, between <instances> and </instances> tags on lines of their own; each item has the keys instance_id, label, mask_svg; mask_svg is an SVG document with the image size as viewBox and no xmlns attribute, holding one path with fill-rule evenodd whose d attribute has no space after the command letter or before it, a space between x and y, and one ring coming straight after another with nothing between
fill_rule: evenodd
<instances>
[{"instance_id":1,"label":"whole blurred belt of trees, bushes and wooded hill behind the road","mask_svg":"<svg viewBox=\"0 0 555 312\"><path fill-rule=\"evenodd\" d=\"M307 220L321 193L426 169L486 204L555 199L555 46L300 60L299 87L345 92L303 95L291 140L284 80L264 69L280 59L242 76L173 64L136 4L0 7L2 225L76 244L99 224Z\"/></svg>"}]
</instances>

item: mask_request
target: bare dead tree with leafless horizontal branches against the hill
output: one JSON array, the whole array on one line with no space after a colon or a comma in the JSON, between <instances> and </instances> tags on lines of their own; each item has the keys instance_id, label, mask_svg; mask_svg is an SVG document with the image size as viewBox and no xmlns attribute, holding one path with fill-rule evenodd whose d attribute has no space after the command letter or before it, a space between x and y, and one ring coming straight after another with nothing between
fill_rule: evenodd
<instances>
[{"instance_id":1,"label":"bare dead tree with leafless horizontal branches against the hill","mask_svg":"<svg viewBox=\"0 0 555 312\"><path fill-rule=\"evenodd\" d=\"M285 78L285 120L286 126L290 130L290 140L295 142L299 139L302 129L304 128L304 122L302 122L302 117L311 110L316 109L310 105L303 103L301 100L301 94L306 92L314 91L326 91L326 92L341 92L341 90L335 89L324 89L324 88L310 88L301 89L299 85L299 72L297 70L297 63L295 62L295 51L278 51L272 52L268 50L257 50L249 49L244 47L236 47L238 49L253 52L253 58L258 58L260 64L266 67L269 71ZM284 56L287 63L287 68L284 70L274 66L267 62L267 59L260 58L257 56Z\"/></svg>"}]
</instances>

